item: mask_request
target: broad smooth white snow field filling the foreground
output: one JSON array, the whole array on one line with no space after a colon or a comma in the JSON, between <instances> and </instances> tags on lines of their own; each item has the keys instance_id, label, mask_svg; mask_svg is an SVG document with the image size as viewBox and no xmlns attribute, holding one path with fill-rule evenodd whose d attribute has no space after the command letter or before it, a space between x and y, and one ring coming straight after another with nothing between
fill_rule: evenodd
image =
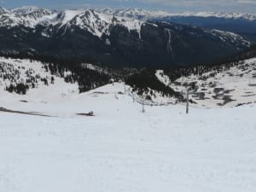
<instances>
[{"instance_id":1,"label":"broad smooth white snow field filling the foreground","mask_svg":"<svg viewBox=\"0 0 256 192\"><path fill-rule=\"evenodd\" d=\"M252 192L255 105L146 107L108 84L80 95L3 96L0 191ZM44 103L39 102L44 101ZM93 110L95 117L76 113Z\"/></svg>"}]
</instances>

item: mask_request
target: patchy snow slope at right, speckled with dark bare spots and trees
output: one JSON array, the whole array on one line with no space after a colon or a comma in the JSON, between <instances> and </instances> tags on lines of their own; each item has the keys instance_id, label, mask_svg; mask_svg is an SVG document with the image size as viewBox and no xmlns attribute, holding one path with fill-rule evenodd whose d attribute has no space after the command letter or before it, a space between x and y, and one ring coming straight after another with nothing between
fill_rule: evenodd
<instances>
[{"instance_id":1,"label":"patchy snow slope at right, speckled with dark bare spots and trees","mask_svg":"<svg viewBox=\"0 0 256 192\"><path fill-rule=\"evenodd\" d=\"M184 95L188 88L191 89L189 98L196 106L234 107L256 102L256 58L240 61L233 67L217 67L207 73L182 77L175 82L171 82L161 70L156 76Z\"/></svg>"}]
</instances>

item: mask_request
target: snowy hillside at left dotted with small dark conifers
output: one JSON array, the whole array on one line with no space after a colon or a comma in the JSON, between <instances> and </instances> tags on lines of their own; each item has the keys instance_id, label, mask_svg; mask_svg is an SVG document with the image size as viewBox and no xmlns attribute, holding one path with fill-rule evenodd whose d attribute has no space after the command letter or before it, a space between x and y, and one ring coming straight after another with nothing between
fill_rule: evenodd
<instances>
[{"instance_id":1,"label":"snowy hillside at left dotted with small dark conifers","mask_svg":"<svg viewBox=\"0 0 256 192\"><path fill-rule=\"evenodd\" d=\"M64 77L69 73L65 72ZM32 95L34 98L44 93L52 97L69 92L79 93L78 84L67 84L64 77L61 78L58 73L51 74L49 64L40 61L0 58L0 91L5 96L20 97L22 100L23 97L16 93ZM7 89L12 93L8 93Z\"/></svg>"}]
</instances>

